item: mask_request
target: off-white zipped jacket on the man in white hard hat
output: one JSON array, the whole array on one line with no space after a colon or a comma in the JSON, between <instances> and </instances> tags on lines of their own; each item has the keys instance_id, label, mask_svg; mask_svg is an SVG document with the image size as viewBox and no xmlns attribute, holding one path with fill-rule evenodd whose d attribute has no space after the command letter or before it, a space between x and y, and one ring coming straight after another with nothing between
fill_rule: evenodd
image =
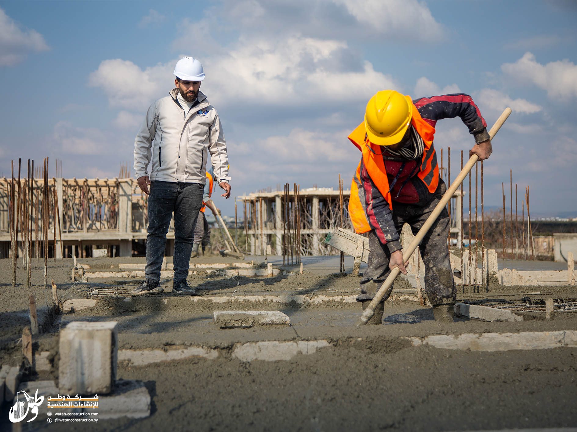
<instances>
[{"instance_id":1,"label":"off-white zipped jacket on the man in white hard hat","mask_svg":"<svg viewBox=\"0 0 577 432\"><path fill-rule=\"evenodd\" d=\"M204 184L210 153L215 179L228 183L226 142L216 109L198 92L198 103L185 116L177 94L178 89L173 89L170 96L160 98L148 108L134 140L136 178L148 176L150 180Z\"/></svg>"}]
</instances>

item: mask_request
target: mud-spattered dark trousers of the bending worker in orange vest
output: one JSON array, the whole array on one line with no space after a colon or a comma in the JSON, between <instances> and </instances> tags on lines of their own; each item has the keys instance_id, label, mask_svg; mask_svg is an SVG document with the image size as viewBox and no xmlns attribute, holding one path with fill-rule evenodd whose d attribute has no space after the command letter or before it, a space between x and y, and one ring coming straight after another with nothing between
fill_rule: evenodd
<instances>
[{"instance_id":1,"label":"mud-spattered dark trousers of the bending worker in orange vest","mask_svg":"<svg viewBox=\"0 0 577 432\"><path fill-rule=\"evenodd\" d=\"M409 223L413 234L417 235L446 190L442 184L433 199L424 206L394 202L392 217L397 231L400 233L403 224ZM449 214L445 208L419 245L425 263L425 292L433 306L454 303L457 294L447 245L449 225ZM361 294L357 301L372 300L391 272L391 253L373 231L369 232L369 248L368 268L362 276ZM387 298L383 298L385 300Z\"/></svg>"}]
</instances>

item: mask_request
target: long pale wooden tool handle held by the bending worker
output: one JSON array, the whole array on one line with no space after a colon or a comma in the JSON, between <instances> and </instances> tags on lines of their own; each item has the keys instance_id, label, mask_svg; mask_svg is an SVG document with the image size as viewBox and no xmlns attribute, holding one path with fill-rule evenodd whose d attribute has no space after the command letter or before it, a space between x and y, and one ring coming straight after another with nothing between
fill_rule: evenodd
<instances>
[{"instance_id":1,"label":"long pale wooden tool handle held by the bending worker","mask_svg":"<svg viewBox=\"0 0 577 432\"><path fill-rule=\"evenodd\" d=\"M503 126L503 123L505 123L505 120L507 120L509 114L511 114L511 108L505 108L505 111L503 111L499 119L497 119L497 121L495 122L495 124L493 124L493 127L489 131L490 139L493 139L493 137L497 134L501 126ZM460 184L463 183L463 180L465 179L467 174L469 174L469 171L473 169L473 166L475 166L478 159L479 157L476 154L473 154L473 156L471 156L469 162L467 162L467 165L464 166L463 170L459 173L455 181L451 184L451 187L448 188L447 192L445 192L445 195L443 195L443 198L441 198L441 200L439 201L439 204L437 204L437 206L434 208L433 213L429 215L429 217L425 221L425 224L421 227L421 229L419 229L419 232L417 233L413 241L411 241L409 247L405 251L403 251L403 262L406 263L407 261L409 261L409 258L411 257L411 255L413 255L413 252L415 251L415 249L417 249L417 246L419 245L421 240L423 240L425 234L429 231L433 223L437 220L437 217L439 217L441 211L443 211L443 209L449 202L449 199L451 199L451 196L453 196L453 194L460 186ZM368 320L370 320L370 317L372 317L374 314L374 308L376 308L376 306L385 296L388 297L391 294L393 282L395 281L395 278L396 276L399 275L399 273L400 270L398 267L395 267L393 270L391 270L391 273L389 273L388 278L385 279L385 282L383 282L383 285L381 285L379 291L377 291L377 294L374 296L373 300L369 303L369 306L363 311L361 319L359 319L357 325L364 325Z\"/></svg>"}]
</instances>

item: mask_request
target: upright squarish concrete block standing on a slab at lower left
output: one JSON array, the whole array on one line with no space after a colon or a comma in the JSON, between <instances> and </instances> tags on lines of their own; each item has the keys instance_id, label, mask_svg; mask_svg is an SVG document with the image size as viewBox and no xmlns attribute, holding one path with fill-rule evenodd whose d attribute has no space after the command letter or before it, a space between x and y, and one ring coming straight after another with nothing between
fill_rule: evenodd
<instances>
[{"instance_id":1,"label":"upright squarish concrete block standing on a slab at lower left","mask_svg":"<svg viewBox=\"0 0 577 432\"><path fill-rule=\"evenodd\" d=\"M118 323L73 321L60 331L58 386L74 395L112 390L118 366Z\"/></svg>"}]
</instances>

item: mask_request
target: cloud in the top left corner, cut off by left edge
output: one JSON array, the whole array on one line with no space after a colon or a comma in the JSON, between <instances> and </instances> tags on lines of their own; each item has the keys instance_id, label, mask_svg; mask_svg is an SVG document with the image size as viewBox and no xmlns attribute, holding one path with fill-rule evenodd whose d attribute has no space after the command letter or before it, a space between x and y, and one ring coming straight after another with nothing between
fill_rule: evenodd
<instances>
[{"instance_id":1,"label":"cloud in the top left corner, cut off by left edge","mask_svg":"<svg viewBox=\"0 0 577 432\"><path fill-rule=\"evenodd\" d=\"M0 8L0 66L14 66L31 52L46 50L48 45L40 33L22 29Z\"/></svg>"}]
</instances>

